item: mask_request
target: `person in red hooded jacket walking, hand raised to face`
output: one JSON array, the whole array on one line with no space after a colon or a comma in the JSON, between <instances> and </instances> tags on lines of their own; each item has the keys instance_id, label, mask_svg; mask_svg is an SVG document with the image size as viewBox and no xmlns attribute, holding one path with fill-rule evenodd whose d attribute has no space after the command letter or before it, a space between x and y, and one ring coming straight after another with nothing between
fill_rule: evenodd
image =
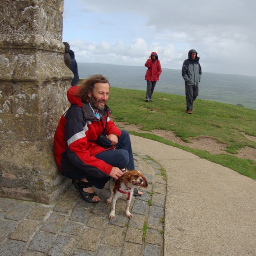
<instances>
[{"instance_id":1,"label":"person in red hooded jacket walking, hand raised to face","mask_svg":"<svg viewBox=\"0 0 256 256\"><path fill-rule=\"evenodd\" d=\"M158 55L156 52L153 51L151 53L151 55L149 56L148 60L145 63L145 67L147 67L145 75L145 80L147 81L145 102L152 102L152 94L154 92L156 81L159 80L159 77L162 73L160 60L158 60Z\"/></svg>"}]
</instances>

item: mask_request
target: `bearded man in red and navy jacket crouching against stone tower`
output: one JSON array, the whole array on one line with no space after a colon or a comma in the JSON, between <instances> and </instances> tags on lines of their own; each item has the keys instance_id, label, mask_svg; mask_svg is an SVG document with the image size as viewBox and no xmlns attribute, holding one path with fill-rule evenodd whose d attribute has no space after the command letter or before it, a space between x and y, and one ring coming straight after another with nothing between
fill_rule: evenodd
<instances>
[{"instance_id":1,"label":"bearded man in red and navy jacket crouching against stone tower","mask_svg":"<svg viewBox=\"0 0 256 256\"><path fill-rule=\"evenodd\" d=\"M54 134L54 157L62 175L72 179L90 203L100 201L93 186L102 189L111 177L118 179L122 169L134 169L129 134L110 120L111 110L106 105L109 92L109 82L102 75L69 88L71 106ZM99 145L97 137L101 134L110 140L109 147Z\"/></svg>"}]
</instances>

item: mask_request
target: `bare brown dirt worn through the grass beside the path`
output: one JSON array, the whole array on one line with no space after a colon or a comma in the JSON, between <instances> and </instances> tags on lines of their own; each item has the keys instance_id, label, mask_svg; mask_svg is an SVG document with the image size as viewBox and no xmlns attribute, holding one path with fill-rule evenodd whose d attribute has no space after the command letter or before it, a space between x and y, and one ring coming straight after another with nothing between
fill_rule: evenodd
<instances>
[{"instance_id":1,"label":"bare brown dirt worn through the grass beside the path","mask_svg":"<svg viewBox=\"0 0 256 256\"><path fill-rule=\"evenodd\" d=\"M122 129L136 131L138 133L154 134L179 145L183 145L183 146L187 146L187 147L199 149L199 150L206 150L210 154L229 154L225 151L227 145L224 143L219 143L216 138L211 136L200 136L197 138L189 138L189 143L188 143L188 142L182 141L172 131L165 131L165 130L159 130L159 129L156 129L153 131L142 131L140 129L141 128L140 126L125 124L125 123L116 122L116 121L115 121L115 124ZM256 137L248 136L245 134L243 135L248 139L256 142ZM239 153L235 154L234 156L244 158L244 159L251 159L254 162L256 162L256 149L251 147L245 147L239 150Z\"/></svg>"}]
</instances>

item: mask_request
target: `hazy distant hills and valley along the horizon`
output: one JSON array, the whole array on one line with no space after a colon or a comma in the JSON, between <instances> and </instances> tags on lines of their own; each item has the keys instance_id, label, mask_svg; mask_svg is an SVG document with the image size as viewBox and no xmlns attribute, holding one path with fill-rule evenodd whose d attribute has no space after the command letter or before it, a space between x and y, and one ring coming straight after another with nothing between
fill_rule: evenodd
<instances>
[{"instance_id":1,"label":"hazy distant hills and valley along the horizon","mask_svg":"<svg viewBox=\"0 0 256 256\"><path fill-rule=\"evenodd\" d=\"M93 74L108 77L111 86L146 90L144 66L77 63L80 78ZM256 77L204 72L199 84L199 99L240 105L256 110ZM185 96L181 69L162 68L155 91Z\"/></svg>"}]
</instances>

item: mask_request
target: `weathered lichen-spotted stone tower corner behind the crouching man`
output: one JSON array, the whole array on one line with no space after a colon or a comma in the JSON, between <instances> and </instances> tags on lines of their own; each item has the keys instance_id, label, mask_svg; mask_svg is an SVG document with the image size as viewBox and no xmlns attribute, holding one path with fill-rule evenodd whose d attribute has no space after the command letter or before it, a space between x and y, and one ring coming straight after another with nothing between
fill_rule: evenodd
<instances>
[{"instance_id":1,"label":"weathered lichen-spotted stone tower corner behind the crouching man","mask_svg":"<svg viewBox=\"0 0 256 256\"><path fill-rule=\"evenodd\" d=\"M67 186L53 135L67 109L64 0L1 0L0 196L50 204Z\"/></svg>"}]
</instances>

